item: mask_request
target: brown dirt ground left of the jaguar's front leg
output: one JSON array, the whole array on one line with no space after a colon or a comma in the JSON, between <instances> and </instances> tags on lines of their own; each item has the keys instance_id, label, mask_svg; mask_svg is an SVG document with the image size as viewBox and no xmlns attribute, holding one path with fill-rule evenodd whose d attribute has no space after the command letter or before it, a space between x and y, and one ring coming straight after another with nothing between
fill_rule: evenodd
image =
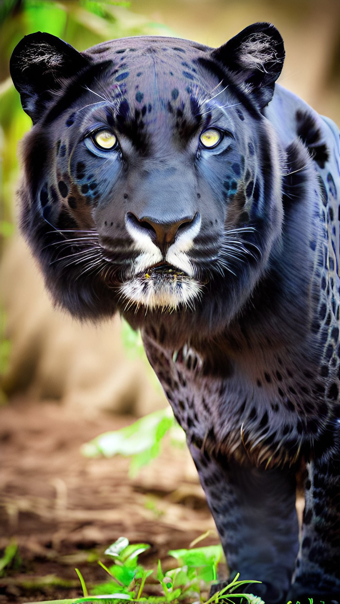
<instances>
[{"instance_id":1,"label":"brown dirt ground left of the jaguar's front leg","mask_svg":"<svg viewBox=\"0 0 340 604\"><path fill-rule=\"evenodd\" d=\"M82 596L74 568L88 586L105 581L97 561L108 564L103 551L120 536L151 545L147 568L158 558L175 567L168 550L209 529L202 545L218 542L187 451L165 443L134 479L126 458L82 456L83 443L132 420L23 399L0 409L0 557L11 539L19 552L0 576L1 604Z\"/></svg>"}]
</instances>

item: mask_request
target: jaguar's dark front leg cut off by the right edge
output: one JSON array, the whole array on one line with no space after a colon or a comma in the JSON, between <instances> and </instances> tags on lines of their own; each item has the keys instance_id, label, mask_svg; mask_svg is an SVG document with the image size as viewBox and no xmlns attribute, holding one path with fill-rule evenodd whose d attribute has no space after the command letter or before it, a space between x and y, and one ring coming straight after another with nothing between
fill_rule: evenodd
<instances>
[{"instance_id":1,"label":"jaguar's dark front leg cut off by the right edge","mask_svg":"<svg viewBox=\"0 0 340 604\"><path fill-rule=\"evenodd\" d=\"M325 604L340 602L340 459L336 457L307 464L301 544L289 592L292 601L312 597Z\"/></svg>"}]
</instances>

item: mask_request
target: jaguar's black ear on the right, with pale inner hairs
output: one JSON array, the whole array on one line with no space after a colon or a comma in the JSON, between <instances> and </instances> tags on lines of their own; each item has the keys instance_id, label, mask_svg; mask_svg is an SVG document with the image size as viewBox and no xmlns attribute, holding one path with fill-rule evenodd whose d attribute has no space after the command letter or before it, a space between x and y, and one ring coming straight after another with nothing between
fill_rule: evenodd
<instances>
[{"instance_id":1,"label":"jaguar's black ear on the right, with pale inner hairs","mask_svg":"<svg viewBox=\"0 0 340 604\"><path fill-rule=\"evenodd\" d=\"M254 23L212 52L243 85L259 109L271 100L284 62L283 39L270 23Z\"/></svg>"}]
</instances>

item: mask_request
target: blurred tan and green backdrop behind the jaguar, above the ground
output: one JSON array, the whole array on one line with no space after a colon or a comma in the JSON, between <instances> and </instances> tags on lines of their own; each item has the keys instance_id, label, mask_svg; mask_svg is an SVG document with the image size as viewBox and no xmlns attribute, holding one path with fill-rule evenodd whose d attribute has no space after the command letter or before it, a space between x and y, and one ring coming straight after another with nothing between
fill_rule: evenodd
<instances>
[{"instance_id":1,"label":"blurred tan and green backdrop behind the jaguar, above the ground","mask_svg":"<svg viewBox=\"0 0 340 604\"><path fill-rule=\"evenodd\" d=\"M0 0L0 373L2 402L23 394L88 416L141 416L166 405L140 359L129 359L114 318L80 325L53 309L16 228L18 141L30 128L8 72L22 36L48 31L84 50L114 37L159 34L216 47L256 21L286 46L280 83L340 123L339 0ZM20 149L20 146L19 146Z\"/></svg>"}]
</instances>

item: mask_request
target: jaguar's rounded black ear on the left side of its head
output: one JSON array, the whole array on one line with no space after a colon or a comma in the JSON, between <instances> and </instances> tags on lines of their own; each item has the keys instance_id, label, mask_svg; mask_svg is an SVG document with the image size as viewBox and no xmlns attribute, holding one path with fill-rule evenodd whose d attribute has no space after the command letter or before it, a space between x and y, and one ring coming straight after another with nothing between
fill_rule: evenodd
<instances>
[{"instance_id":1,"label":"jaguar's rounded black ear on the left side of its head","mask_svg":"<svg viewBox=\"0 0 340 604\"><path fill-rule=\"evenodd\" d=\"M56 36L37 31L13 50L10 74L33 124L57 96L61 83L87 68L88 59Z\"/></svg>"}]
</instances>

